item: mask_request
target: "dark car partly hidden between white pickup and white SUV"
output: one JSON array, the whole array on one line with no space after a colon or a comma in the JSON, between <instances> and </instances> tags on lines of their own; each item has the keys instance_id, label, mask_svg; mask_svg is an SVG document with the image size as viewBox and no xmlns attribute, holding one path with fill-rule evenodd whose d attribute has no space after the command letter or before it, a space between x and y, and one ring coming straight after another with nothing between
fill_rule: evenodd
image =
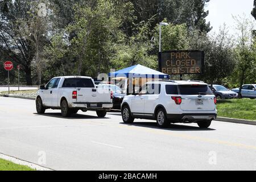
<instances>
[{"instance_id":1,"label":"dark car partly hidden between white pickup and white SUV","mask_svg":"<svg viewBox=\"0 0 256 182\"><path fill-rule=\"evenodd\" d=\"M113 109L121 109L123 97L125 97L126 94L122 92L122 89L119 88L119 86L112 84L100 84L97 85L97 87L111 89L113 91Z\"/></svg>"}]
</instances>

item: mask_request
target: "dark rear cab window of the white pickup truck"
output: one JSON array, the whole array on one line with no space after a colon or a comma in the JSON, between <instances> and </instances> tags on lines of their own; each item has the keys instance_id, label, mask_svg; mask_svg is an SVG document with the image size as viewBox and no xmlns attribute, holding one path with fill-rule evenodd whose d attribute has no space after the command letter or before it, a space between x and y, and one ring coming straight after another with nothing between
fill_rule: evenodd
<instances>
[{"instance_id":1,"label":"dark rear cab window of the white pickup truck","mask_svg":"<svg viewBox=\"0 0 256 182\"><path fill-rule=\"evenodd\" d=\"M94 84L89 78L66 78L62 87L94 88Z\"/></svg>"}]
</instances>

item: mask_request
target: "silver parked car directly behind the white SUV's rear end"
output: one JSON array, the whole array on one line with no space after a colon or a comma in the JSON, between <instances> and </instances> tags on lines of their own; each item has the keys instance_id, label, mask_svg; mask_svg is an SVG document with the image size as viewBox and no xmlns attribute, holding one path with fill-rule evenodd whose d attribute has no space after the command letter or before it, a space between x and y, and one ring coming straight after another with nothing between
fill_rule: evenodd
<instances>
[{"instance_id":1,"label":"silver parked car directly behind the white SUV's rear end","mask_svg":"<svg viewBox=\"0 0 256 182\"><path fill-rule=\"evenodd\" d=\"M233 92L232 90L229 90L222 85L212 85L212 91L218 100L238 97L236 92Z\"/></svg>"}]
</instances>

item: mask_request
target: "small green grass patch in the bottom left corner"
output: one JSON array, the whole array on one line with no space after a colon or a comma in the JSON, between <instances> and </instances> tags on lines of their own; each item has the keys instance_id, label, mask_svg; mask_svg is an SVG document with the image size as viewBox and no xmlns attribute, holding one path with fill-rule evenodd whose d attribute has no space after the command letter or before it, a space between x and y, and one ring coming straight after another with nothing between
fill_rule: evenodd
<instances>
[{"instance_id":1,"label":"small green grass patch in the bottom left corner","mask_svg":"<svg viewBox=\"0 0 256 182\"><path fill-rule=\"evenodd\" d=\"M5 159L0 159L0 171L35 171L35 169L15 164Z\"/></svg>"}]
</instances>

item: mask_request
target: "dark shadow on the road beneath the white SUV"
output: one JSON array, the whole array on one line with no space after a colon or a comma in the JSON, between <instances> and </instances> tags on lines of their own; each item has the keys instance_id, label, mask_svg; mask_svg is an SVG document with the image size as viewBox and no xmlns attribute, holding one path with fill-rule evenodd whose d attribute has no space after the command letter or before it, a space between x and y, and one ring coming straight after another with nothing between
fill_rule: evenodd
<instances>
[{"instance_id":1,"label":"dark shadow on the road beneath the white SUV","mask_svg":"<svg viewBox=\"0 0 256 182\"><path fill-rule=\"evenodd\" d=\"M122 125L131 125L131 126L139 126L139 127L148 127L151 129L161 129L161 130L170 130L170 131L214 131L215 129L202 129L196 126L187 126L187 125L177 125L170 124L167 128L160 128L156 125L156 122L134 122L132 124L120 123Z\"/></svg>"}]
</instances>

